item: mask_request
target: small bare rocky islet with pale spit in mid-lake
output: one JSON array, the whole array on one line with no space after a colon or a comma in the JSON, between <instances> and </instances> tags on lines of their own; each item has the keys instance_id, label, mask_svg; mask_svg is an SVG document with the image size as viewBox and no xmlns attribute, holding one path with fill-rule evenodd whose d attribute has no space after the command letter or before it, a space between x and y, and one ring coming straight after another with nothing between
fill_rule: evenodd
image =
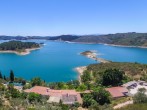
<instances>
[{"instance_id":1,"label":"small bare rocky islet with pale spit in mid-lake","mask_svg":"<svg viewBox=\"0 0 147 110\"><path fill-rule=\"evenodd\" d=\"M80 54L83 55L83 56L86 56L86 57L88 57L88 58L90 58L90 59L93 59L93 60L95 60L95 61L98 61L98 62L100 62L100 63L109 63L109 62L110 62L110 61L105 60L105 59L103 59L103 58L97 57L96 51L85 51L85 52L82 52L82 53L80 53Z\"/></svg>"}]
</instances>

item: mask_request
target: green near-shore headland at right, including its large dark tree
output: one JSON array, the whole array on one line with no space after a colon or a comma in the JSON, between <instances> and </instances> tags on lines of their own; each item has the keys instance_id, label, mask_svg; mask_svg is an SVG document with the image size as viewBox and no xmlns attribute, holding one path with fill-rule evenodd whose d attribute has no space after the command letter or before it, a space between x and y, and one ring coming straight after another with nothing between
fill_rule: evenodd
<instances>
[{"instance_id":1,"label":"green near-shore headland at right, including its large dark tree","mask_svg":"<svg viewBox=\"0 0 147 110\"><path fill-rule=\"evenodd\" d=\"M87 66L81 75L88 90L98 86L119 86L131 80L147 81L147 65L139 63L100 63Z\"/></svg>"}]
</instances>

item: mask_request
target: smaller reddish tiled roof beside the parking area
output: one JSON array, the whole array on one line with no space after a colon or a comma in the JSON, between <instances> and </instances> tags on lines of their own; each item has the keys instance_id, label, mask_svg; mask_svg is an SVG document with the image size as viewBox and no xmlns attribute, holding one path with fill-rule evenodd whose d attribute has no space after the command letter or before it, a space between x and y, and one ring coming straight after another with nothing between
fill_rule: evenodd
<instances>
[{"instance_id":1,"label":"smaller reddish tiled roof beside the parking area","mask_svg":"<svg viewBox=\"0 0 147 110\"><path fill-rule=\"evenodd\" d=\"M111 87L106 88L106 91L110 92L113 98L123 97L125 96L123 93L128 92L128 90L124 87Z\"/></svg>"}]
</instances>

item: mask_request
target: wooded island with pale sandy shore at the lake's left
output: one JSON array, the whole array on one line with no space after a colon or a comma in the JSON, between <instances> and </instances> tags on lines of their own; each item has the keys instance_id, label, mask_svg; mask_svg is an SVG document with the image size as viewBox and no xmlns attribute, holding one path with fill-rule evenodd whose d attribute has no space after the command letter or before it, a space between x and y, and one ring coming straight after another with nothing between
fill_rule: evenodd
<instances>
[{"instance_id":1,"label":"wooded island with pale sandy shore at the lake's left","mask_svg":"<svg viewBox=\"0 0 147 110\"><path fill-rule=\"evenodd\" d=\"M0 53L27 55L30 51L39 49L40 47L41 45L35 42L9 41L0 44Z\"/></svg>"}]
</instances>

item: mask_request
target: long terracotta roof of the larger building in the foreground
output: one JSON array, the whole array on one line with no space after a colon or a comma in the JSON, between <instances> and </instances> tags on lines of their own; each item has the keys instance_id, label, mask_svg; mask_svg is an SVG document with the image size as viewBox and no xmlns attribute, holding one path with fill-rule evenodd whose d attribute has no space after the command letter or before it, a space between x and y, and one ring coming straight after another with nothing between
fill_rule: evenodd
<instances>
[{"instance_id":1,"label":"long terracotta roof of the larger building in the foreground","mask_svg":"<svg viewBox=\"0 0 147 110\"><path fill-rule=\"evenodd\" d=\"M50 97L49 102L58 102L59 99L65 104L71 104L75 101L82 103L80 93L75 90L53 90L48 87L34 86L31 89L26 89L24 92L34 92L41 95L47 95Z\"/></svg>"}]
</instances>

